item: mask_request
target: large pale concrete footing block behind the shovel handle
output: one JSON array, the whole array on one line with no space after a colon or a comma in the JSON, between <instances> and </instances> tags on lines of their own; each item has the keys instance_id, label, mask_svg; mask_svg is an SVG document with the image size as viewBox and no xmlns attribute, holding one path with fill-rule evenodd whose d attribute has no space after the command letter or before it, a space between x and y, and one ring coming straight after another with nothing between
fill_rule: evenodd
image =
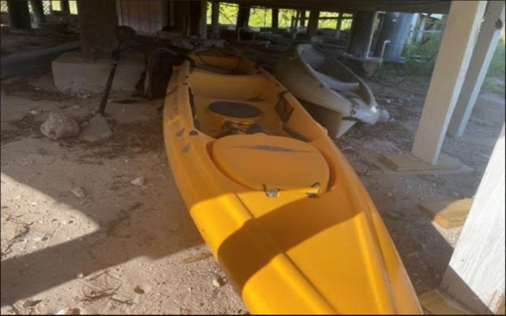
<instances>
[{"instance_id":1,"label":"large pale concrete footing block behind the shovel handle","mask_svg":"<svg viewBox=\"0 0 506 316\"><path fill-rule=\"evenodd\" d=\"M52 63L53 80L60 91L71 93L102 93L112 67L112 59L91 60L80 52L68 52ZM141 72L144 71L144 55L122 53L119 58L112 91L135 91Z\"/></svg>"}]
</instances>

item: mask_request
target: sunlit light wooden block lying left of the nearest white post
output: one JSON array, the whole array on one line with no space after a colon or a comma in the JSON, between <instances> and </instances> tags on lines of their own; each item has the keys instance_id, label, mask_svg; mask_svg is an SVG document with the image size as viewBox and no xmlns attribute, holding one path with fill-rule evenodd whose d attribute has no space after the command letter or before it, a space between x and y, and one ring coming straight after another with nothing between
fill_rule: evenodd
<instances>
[{"instance_id":1,"label":"sunlit light wooden block lying left of the nearest white post","mask_svg":"<svg viewBox=\"0 0 506 316\"><path fill-rule=\"evenodd\" d=\"M434 201L420 204L431 218L443 228L462 226L468 217L473 199Z\"/></svg>"}]
</instances>

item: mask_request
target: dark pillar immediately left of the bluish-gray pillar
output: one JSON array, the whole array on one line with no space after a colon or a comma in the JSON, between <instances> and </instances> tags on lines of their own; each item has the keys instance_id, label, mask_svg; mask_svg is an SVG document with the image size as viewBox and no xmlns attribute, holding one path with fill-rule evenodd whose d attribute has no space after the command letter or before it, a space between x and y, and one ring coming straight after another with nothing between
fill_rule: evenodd
<instances>
[{"instance_id":1,"label":"dark pillar immediately left of the bluish-gray pillar","mask_svg":"<svg viewBox=\"0 0 506 316\"><path fill-rule=\"evenodd\" d=\"M351 33L348 53L356 57L367 57L372 41L372 31L375 11L358 11L353 18L353 30Z\"/></svg>"}]
</instances>

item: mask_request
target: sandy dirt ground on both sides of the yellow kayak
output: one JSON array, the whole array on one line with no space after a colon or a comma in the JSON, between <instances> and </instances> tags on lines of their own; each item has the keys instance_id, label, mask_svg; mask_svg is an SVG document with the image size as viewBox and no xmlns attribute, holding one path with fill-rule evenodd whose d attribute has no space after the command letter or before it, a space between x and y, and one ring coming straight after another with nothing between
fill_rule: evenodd
<instances>
[{"instance_id":1,"label":"sandy dirt ground on both sides of the yellow kayak","mask_svg":"<svg viewBox=\"0 0 506 316\"><path fill-rule=\"evenodd\" d=\"M474 195L504 109L479 104L466 141L445 140L443 151L472 173L386 174L370 157L410 149L427 87L416 78L395 88L370 86L394 120L356 125L335 143L369 191L420 294L439 285L460 228L433 224L419 203ZM2 81L0 93L3 314L246 313L174 182L161 100L113 93L106 110L113 136L88 144L52 141L39 127L53 110L85 125L100 95L61 94L50 72ZM144 185L131 184L141 176ZM76 187L85 196L73 194Z\"/></svg>"}]
</instances>

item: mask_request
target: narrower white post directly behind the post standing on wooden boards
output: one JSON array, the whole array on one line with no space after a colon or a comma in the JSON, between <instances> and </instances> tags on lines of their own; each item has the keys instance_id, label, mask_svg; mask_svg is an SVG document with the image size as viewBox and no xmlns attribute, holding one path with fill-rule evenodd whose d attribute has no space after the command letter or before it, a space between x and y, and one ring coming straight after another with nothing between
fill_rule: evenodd
<instances>
[{"instance_id":1,"label":"narrower white post directly behind the post standing on wooden boards","mask_svg":"<svg viewBox=\"0 0 506 316\"><path fill-rule=\"evenodd\" d=\"M500 23L498 21L501 21ZM458 96L455 110L448 126L448 134L459 138L464 133L466 126L473 111L473 107L480 93L481 86L485 80L490 61L497 47L501 25L504 25L504 2L488 2L471 64L466 73L466 79L462 85L462 90Z\"/></svg>"}]
</instances>

